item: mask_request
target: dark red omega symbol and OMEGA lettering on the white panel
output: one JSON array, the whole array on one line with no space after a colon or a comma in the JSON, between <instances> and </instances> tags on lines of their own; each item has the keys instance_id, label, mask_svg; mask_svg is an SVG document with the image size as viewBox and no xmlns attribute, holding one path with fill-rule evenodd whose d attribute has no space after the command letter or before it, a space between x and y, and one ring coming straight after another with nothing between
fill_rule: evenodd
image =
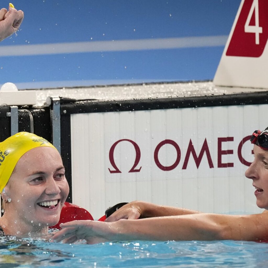
<instances>
[{"instance_id":1,"label":"dark red omega symbol and OMEGA lettering on the white panel","mask_svg":"<svg viewBox=\"0 0 268 268\"><path fill-rule=\"evenodd\" d=\"M242 147L243 147L243 144L245 142L250 140L250 138L251 138L251 136L244 137L240 141L240 143L239 143L239 145L237 147L237 155L238 155L239 161L245 166L250 166L251 163L246 161L243 158L243 156L242 156ZM233 154L233 150L222 150L222 143L224 143L224 142L232 142L233 140L234 140L234 137L219 137L218 138L218 144L217 144L217 149L218 149L218 151L217 151L217 156L218 156L217 167L218 168L228 168L228 167L233 167L234 166L234 163L232 163L232 162L230 162L230 163L223 163L222 162L222 155ZM133 147L135 148L135 151L136 151L135 161L133 163L132 168L129 170L129 173L131 173L131 172L140 172L140 170L142 168L142 163L139 163L139 162L140 162L142 152L140 150L139 145L136 142L134 142L133 140L130 140L130 139L118 140L117 142L115 142L111 146L110 151L109 151L109 160L110 160L110 163L111 163L111 166L113 167L113 169L108 168L109 172L110 173L121 173L121 171L118 169L118 167L117 167L117 165L115 163L114 150L115 150L117 144L122 142L122 141L127 141L127 142L131 143L133 145ZM177 152L176 160L170 166L162 165L160 163L159 159L158 159L158 152L159 152L160 148L162 146L164 146L165 144L172 145L175 148L176 152ZM253 151L252 151L252 154L253 154ZM188 144L188 148L187 148L187 152L186 152L186 155L185 155L185 158L184 158L184 161L183 161L182 169L187 169L189 157L191 155L192 155L192 157L193 157L193 159L195 161L195 164L196 164L197 168L199 168L199 165L200 165L203 157L207 158L209 168L214 168L215 167L215 163L213 163L213 161L212 161L211 154L210 154L210 151L209 151L209 146L208 146L206 138L204 139L203 146L202 146L199 154L198 154L198 152L196 152L196 150L194 148L194 145L192 143L192 140L190 139L189 144ZM162 142L160 142L155 147L155 150L154 150L154 162L155 162L155 164L157 165L157 167L159 169L161 169L163 171L173 170L178 166L180 161L181 161L181 150L180 150L180 147L178 146L178 144L174 140L169 140L169 139L163 140Z\"/></svg>"}]
</instances>

